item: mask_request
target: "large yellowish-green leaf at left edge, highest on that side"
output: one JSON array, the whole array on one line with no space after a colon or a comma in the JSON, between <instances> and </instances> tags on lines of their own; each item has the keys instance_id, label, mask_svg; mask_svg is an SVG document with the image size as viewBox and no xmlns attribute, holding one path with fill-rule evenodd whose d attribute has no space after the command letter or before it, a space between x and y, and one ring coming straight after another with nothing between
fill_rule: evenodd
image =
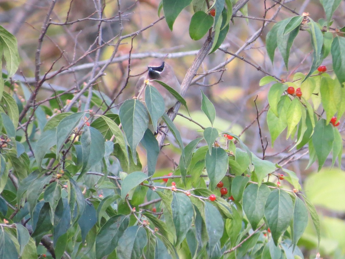
<instances>
[{"instance_id":1,"label":"large yellowish-green leaf at left edge, highest on that side","mask_svg":"<svg viewBox=\"0 0 345 259\"><path fill-rule=\"evenodd\" d=\"M8 76L13 76L19 66L19 53L17 47L17 39L5 28L0 26L0 42L3 49L3 56L6 60L6 69ZM1 55L2 58L2 55ZM18 124L14 124L18 125Z\"/></svg>"}]
</instances>

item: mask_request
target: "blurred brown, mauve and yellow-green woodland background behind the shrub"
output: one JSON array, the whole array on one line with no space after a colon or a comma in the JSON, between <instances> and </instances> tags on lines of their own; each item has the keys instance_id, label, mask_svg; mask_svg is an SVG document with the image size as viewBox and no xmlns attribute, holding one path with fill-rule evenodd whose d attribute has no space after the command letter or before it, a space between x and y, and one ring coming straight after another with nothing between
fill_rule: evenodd
<instances>
[{"instance_id":1,"label":"blurred brown, mauve and yellow-green woodland background behind the shrub","mask_svg":"<svg viewBox=\"0 0 345 259\"><path fill-rule=\"evenodd\" d=\"M134 96L139 74L147 69L149 60L154 57L166 57L166 62L174 68L181 82L205 38L193 41L189 37L192 6L182 11L173 30L170 31L164 19L157 21L159 2L159 0L56 1L55 7L51 10L51 24L43 38L40 55L39 75L42 77L48 73L47 76L51 78L43 84L38 99L45 100L58 90L73 87L80 89L83 83L87 83L92 77L93 69L99 71L112 55L114 56L112 63L104 70L106 75L99 77L93 88L106 94L110 99L117 97L115 110L119 108L121 102ZM268 142L267 159L281 163L288 161L285 167L296 172L305 194L317 207L321 217L320 247L317 248L317 237L312 226L307 228L300 240L300 247L304 249L305 257L315 258L316 252L320 251L323 258L345 258L345 174L342 171L344 162L341 166L342 170L337 163L333 169L327 168L331 165L331 158L326 162L326 168L319 173L316 165L305 170L309 159L305 152L307 149L293 155L296 150L290 151L290 148L294 145L295 139L286 140L284 133L278 137L274 147L271 147L266 122L267 93L270 85L259 86L260 79L267 74L255 66L277 78L292 80L296 72L309 71L312 63L312 48L309 33L300 32L292 46L287 71L278 52L275 55L274 66L266 53L265 38L273 23L265 27L260 36L248 45L248 39L262 28L265 22L264 3L266 7L273 6L267 11L266 19L270 19L278 10L279 4L275 1L249 1L248 14L243 10L246 18L234 18L233 23L230 23L227 38L221 46L232 53L243 48L238 55L244 57L250 64L220 50L208 55L195 77L198 80L193 81L194 84L189 87L185 95L190 115L201 125L210 126L207 117L200 111L200 89L202 89L215 105L217 112L215 126L219 132L228 131L239 135L249 126L241 138L250 150L262 157L256 117L257 109L259 113L263 112L259 122L264 144L266 145L266 139ZM13 79L29 87L36 83L35 55L41 27L50 6L49 0L0 0L0 24L17 37L21 58L20 69ZM296 15L293 11L298 14L308 12L315 21L325 17L320 2L316 0L285 1L284 6L286 8L280 9L274 21ZM238 12L237 15L241 16L243 13ZM160 16L162 15L161 13ZM103 19L102 22L100 19ZM344 26L345 2L343 1L335 12L333 27ZM126 35L129 36L125 37ZM101 37L101 42L97 41L98 36ZM104 44L105 42L107 44ZM96 49L97 44L104 44L99 53L92 51ZM231 62L219 67L230 59ZM331 57L328 57L323 65L332 69ZM213 70L217 71L210 73ZM19 94L23 93L19 90ZM45 105L49 106L48 103ZM180 109L180 113L188 115L184 108ZM251 124L252 122L254 123ZM185 143L202 134L198 132L200 127L183 117L177 116L175 123ZM344 120L341 119L339 130L344 140L343 129ZM178 163L179 160L180 154L176 152L174 138L168 137L167 142L171 145L165 147L160 154L157 176L173 171L175 167L173 161ZM225 140L219 138L219 142L224 144ZM145 165L144 149L139 147L138 153ZM301 156L303 153L306 154ZM326 182L327 185L324 184ZM282 181L282 184L286 183Z\"/></svg>"}]
</instances>

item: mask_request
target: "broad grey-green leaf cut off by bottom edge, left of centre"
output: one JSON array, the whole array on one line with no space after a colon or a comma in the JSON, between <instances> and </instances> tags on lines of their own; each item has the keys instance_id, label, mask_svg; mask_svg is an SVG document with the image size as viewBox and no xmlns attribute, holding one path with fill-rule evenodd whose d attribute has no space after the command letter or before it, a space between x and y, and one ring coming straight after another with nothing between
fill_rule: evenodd
<instances>
[{"instance_id":1,"label":"broad grey-green leaf cut off by bottom edge, left of centre","mask_svg":"<svg viewBox=\"0 0 345 259\"><path fill-rule=\"evenodd\" d=\"M120 238L116 255L119 259L139 259L147 244L147 234L143 227L132 226Z\"/></svg>"}]
</instances>

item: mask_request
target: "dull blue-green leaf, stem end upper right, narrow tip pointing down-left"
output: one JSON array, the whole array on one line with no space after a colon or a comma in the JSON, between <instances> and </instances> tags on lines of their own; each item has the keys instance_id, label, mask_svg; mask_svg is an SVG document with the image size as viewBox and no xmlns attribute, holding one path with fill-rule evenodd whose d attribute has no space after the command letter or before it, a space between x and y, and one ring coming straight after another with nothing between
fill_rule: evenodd
<instances>
[{"instance_id":1,"label":"dull blue-green leaf, stem end upper right, narrow tip pointing down-left","mask_svg":"<svg viewBox=\"0 0 345 259\"><path fill-rule=\"evenodd\" d=\"M83 114L83 112L71 114L59 122L56 127L56 157L59 156L63 143L77 127Z\"/></svg>"}]
</instances>

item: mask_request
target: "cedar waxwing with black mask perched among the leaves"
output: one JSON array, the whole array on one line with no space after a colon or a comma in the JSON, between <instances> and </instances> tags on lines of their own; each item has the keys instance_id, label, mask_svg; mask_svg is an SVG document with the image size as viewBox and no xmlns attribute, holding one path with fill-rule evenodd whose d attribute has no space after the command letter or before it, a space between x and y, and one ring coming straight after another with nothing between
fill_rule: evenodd
<instances>
[{"instance_id":1,"label":"cedar waxwing with black mask perched among the leaves","mask_svg":"<svg viewBox=\"0 0 345 259\"><path fill-rule=\"evenodd\" d=\"M174 88L174 90L178 93L180 93L180 83L178 82L174 70L167 64L164 60L155 58L152 59L148 65L148 71L144 75L142 75L135 88L135 95L138 96L140 93L140 90L142 87L144 87L144 81L157 79L164 83L166 83L171 88ZM162 95L164 102L165 102L165 112L167 112L172 106L174 106L177 102L177 99L172 96L168 92L167 89L165 89L163 86L161 86L156 81L150 81L150 85L157 88L158 92ZM144 100L144 94L140 95L140 99Z\"/></svg>"}]
</instances>

